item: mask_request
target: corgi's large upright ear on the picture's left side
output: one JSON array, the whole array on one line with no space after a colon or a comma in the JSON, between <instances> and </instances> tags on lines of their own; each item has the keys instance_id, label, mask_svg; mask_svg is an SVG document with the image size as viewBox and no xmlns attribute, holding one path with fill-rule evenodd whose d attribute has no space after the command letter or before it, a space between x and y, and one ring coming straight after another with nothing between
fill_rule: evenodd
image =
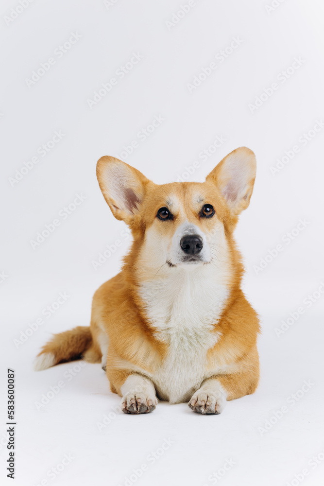
<instances>
[{"instance_id":1,"label":"corgi's large upright ear on the picture's left side","mask_svg":"<svg viewBox=\"0 0 324 486\"><path fill-rule=\"evenodd\" d=\"M134 167L110 156L98 160L97 179L115 218L131 225L143 201L149 179Z\"/></svg>"}]
</instances>

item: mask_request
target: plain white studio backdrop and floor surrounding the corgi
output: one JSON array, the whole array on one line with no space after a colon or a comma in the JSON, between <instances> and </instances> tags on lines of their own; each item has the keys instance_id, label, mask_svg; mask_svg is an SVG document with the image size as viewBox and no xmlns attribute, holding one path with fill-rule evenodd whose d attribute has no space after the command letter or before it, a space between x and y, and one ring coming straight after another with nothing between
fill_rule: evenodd
<instances>
[{"instance_id":1,"label":"plain white studio backdrop and floor surrounding the corgi","mask_svg":"<svg viewBox=\"0 0 324 486\"><path fill-rule=\"evenodd\" d=\"M1 16L1 478L11 367L16 485L322 485L321 1L3 0ZM98 158L203 181L241 145L258 164L236 231L263 328L256 394L220 416L125 416L99 364L35 373L129 246Z\"/></svg>"}]
</instances>

